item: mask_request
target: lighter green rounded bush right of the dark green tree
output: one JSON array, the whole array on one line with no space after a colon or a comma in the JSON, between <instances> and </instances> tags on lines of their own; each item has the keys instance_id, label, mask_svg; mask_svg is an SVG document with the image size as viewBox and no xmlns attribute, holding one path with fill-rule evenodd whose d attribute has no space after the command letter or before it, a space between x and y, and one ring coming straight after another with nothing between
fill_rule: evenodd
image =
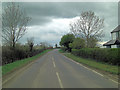
<instances>
[{"instance_id":1,"label":"lighter green rounded bush right of the dark green tree","mask_svg":"<svg viewBox=\"0 0 120 90\"><path fill-rule=\"evenodd\" d=\"M82 38L75 38L72 43L69 44L72 49L80 49L85 47L85 40Z\"/></svg>"}]
</instances>

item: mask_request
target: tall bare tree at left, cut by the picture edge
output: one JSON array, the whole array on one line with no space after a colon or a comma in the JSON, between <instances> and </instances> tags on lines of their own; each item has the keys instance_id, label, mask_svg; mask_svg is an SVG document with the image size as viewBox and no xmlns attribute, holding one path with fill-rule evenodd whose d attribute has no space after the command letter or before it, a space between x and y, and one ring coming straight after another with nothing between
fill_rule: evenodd
<instances>
[{"instance_id":1,"label":"tall bare tree at left, cut by the picture edge","mask_svg":"<svg viewBox=\"0 0 120 90\"><path fill-rule=\"evenodd\" d=\"M19 5L10 2L3 8L2 38L15 48L16 42L25 34L30 17L26 16Z\"/></svg>"}]
</instances>

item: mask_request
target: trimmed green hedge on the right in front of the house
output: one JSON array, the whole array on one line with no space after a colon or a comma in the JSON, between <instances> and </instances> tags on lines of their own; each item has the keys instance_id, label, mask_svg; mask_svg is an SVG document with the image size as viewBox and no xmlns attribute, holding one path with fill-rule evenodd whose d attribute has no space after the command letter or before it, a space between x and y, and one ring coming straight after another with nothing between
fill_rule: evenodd
<instances>
[{"instance_id":1,"label":"trimmed green hedge on the right in front of the house","mask_svg":"<svg viewBox=\"0 0 120 90\"><path fill-rule=\"evenodd\" d=\"M72 49L72 54L83 58L90 58L98 62L120 65L120 48L82 48Z\"/></svg>"}]
</instances>

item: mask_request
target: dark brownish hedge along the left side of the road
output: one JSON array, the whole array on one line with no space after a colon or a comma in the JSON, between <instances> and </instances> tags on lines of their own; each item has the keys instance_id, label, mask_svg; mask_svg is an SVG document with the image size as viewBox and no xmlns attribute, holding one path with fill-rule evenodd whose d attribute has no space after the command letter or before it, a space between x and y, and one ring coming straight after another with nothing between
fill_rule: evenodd
<instances>
[{"instance_id":1,"label":"dark brownish hedge along the left side of the road","mask_svg":"<svg viewBox=\"0 0 120 90\"><path fill-rule=\"evenodd\" d=\"M49 48L50 49L50 48ZM2 65L12 63L16 60L21 60L24 58L35 56L43 52L44 48L29 50L28 45L17 44L15 48L9 46L2 46Z\"/></svg>"}]
</instances>

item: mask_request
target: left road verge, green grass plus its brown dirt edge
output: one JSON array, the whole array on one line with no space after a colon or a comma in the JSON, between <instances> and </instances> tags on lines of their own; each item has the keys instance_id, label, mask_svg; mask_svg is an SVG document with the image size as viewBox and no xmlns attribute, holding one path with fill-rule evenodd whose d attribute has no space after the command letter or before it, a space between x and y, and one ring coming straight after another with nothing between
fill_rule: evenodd
<instances>
[{"instance_id":1,"label":"left road verge, green grass plus its brown dirt edge","mask_svg":"<svg viewBox=\"0 0 120 90\"><path fill-rule=\"evenodd\" d=\"M36 56L30 57L27 59L23 59L23 60L20 60L18 62L16 61L14 63L10 63L9 65L2 67L2 70L4 73L2 75L2 84L5 84L9 80L11 80L14 76L16 76L20 72L24 71L26 68L31 66L34 63L34 61L38 60L41 56L43 56L44 54L46 54L47 52L49 52L51 50L52 49L45 50ZM22 62L22 63L20 63L20 62ZM19 63L19 65L18 65L18 63ZM6 68L8 68L8 71L5 71L5 70L7 70ZM11 68L11 69L9 69L9 68Z\"/></svg>"}]
</instances>

